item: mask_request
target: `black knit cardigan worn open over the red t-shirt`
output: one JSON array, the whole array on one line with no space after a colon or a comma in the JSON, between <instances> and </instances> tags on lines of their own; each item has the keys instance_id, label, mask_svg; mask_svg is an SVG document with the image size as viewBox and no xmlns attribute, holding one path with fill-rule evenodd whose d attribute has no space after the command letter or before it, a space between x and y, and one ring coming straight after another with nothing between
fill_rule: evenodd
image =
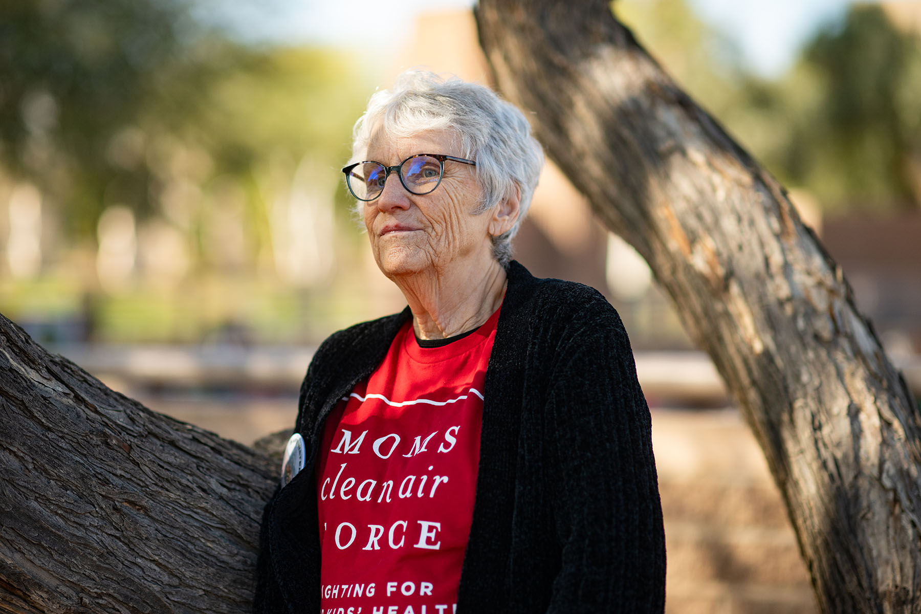
<instances>
[{"instance_id":1,"label":"black knit cardigan worn open over the red t-shirt","mask_svg":"<svg viewBox=\"0 0 921 614\"><path fill-rule=\"evenodd\" d=\"M617 312L517 262L484 385L458 612L661 612L665 535L646 400ZM323 342L300 390L307 467L262 518L255 612L320 612L315 461L336 403L379 365L409 309Z\"/></svg>"}]
</instances>

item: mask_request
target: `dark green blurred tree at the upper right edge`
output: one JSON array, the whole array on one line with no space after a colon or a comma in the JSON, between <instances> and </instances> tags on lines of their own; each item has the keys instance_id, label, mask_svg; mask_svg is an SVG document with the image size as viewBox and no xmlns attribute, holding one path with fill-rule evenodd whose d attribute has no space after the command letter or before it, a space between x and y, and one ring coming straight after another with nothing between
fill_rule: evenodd
<instances>
[{"instance_id":1,"label":"dark green blurred tree at the upper right edge","mask_svg":"<svg viewBox=\"0 0 921 614\"><path fill-rule=\"evenodd\" d=\"M799 59L822 89L792 126L783 173L825 203L921 204L921 39L880 6L853 6ZM787 88L787 98L795 95Z\"/></svg>"}]
</instances>

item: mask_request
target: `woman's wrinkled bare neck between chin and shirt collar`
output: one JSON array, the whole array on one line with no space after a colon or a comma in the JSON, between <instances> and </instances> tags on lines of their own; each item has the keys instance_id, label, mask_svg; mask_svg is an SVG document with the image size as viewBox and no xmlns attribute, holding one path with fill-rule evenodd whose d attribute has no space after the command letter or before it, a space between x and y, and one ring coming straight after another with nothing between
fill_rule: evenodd
<instances>
[{"instance_id":1,"label":"woman's wrinkled bare neck between chin and shirt collar","mask_svg":"<svg viewBox=\"0 0 921 614\"><path fill-rule=\"evenodd\" d=\"M447 339L483 324L502 304L506 271L490 258L486 266L428 270L398 278L413 312L419 339Z\"/></svg>"}]
</instances>

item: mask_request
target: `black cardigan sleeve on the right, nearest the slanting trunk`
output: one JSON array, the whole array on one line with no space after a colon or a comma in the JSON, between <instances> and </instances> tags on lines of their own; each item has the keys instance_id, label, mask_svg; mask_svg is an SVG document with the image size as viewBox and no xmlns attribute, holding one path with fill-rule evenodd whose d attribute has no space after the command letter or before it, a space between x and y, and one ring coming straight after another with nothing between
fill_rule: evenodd
<instances>
[{"instance_id":1,"label":"black cardigan sleeve on the right, nearest the slanting trunk","mask_svg":"<svg viewBox=\"0 0 921 614\"><path fill-rule=\"evenodd\" d=\"M562 548L548 612L661 612L665 536L651 424L623 324L606 303L559 342L546 407Z\"/></svg>"}]
</instances>

